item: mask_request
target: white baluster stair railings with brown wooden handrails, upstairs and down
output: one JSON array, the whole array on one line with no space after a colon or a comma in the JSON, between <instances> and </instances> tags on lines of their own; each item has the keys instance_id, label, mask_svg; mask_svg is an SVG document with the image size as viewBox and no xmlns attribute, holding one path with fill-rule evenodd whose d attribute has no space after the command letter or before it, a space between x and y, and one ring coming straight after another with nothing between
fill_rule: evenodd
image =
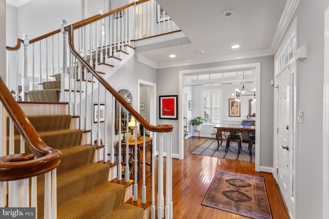
<instances>
[{"instance_id":1,"label":"white baluster stair railings with brown wooden handrails, upstairs and down","mask_svg":"<svg viewBox=\"0 0 329 219\"><path fill-rule=\"evenodd\" d=\"M177 27L169 19L165 11L161 11L162 15L157 16L157 9L159 9L159 7L153 0L139 1L105 14L97 14L72 25L67 25L67 22L63 20L61 29L31 39L30 41L27 35L24 35L23 39L17 39L16 46L7 47L6 85L9 91L4 91L0 93L0 95L6 96L9 94L12 95L12 99L10 99L11 96L9 96L10 98L8 98L11 102L7 104L5 102L6 99L1 98L4 108L2 108L3 113L1 114L3 119L0 122L2 127L5 127L5 116L8 114L11 117L11 121L14 121L17 127L25 127L26 118L23 119L25 115L20 118L20 120L17 120L15 111L12 108L7 108L6 105L15 102L14 99L16 99L16 101L28 101L28 91L42 90L42 82L54 81L54 76L59 74L61 78L59 101L69 103L69 113L71 115L79 115L80 120L78 126L80 129L90 130L90 135L88 137L88 142L90 141L89 144L94 144L94 141L97 140L97 144L100 145L100 138L101 136L104 137L104 161L107 161L107 154L110 154L109 161L111 163L116 159L118 160L118 180L121 180L121 167L122 165L129 167L129 156L125 156L125 161L121 161L121 141L118 140L121 140L122 133L120 131L118 135L115 134L115 121L121 121L121 113L116 113L115 103L118 102L120 112L121 110L125 111L128 117L129 115L134 116L136 121L143 126L143 133L145 134L146 130L149 130L153 136L153 154L151 155L153 160L151 191L152 218L156 217L156 210L157 217L162 218L165 214L165 208L166 218L172 218L171 132L173 127L170 125L154 126L149 124L106 80L109 77L108 75L111 75L116 70L116 65L120 66L120 62L124 62L124 59L129 58L128 54L130 51L133 53L134 42L136 40L177 31ZM21 44L23 45L23 51L20 49ZM104 72L100 70L105 71L105 75L101 75ZM134 72L131 73L134 74ZM100 117L98 116L96 123L94 123L93 116L94 106L96 105L99 110L101 103L105 106L104 125L102 126ZM119 125L121 126L121 123L119 123ZM126 136L128 136L128 123L126 123L125 126ZM111 130L108 131L108 127ZM136 129L138 129L137 126ZM6 133L2 134L4 135ZM29 139L29 141L32 141L30 138L33 139L38 136L35 133L26 133L25 129L22 129L21 134L23 138L27 135L26 138ZM166 134L166 137L163 136L164 134ZM10 133L10 136L12 135L13 133ZM111 138L109 141L107 140L107 136ZM137 135L135 139L137 139ZM22 139L22 141L24 140ZM115 145L117 141L119 142L117 149L118 155L115 156ZM134 200L137 201L138 184L141 183L142 202L145 203L147 191L149 191L145 186L145 136L143 137L143 146L142 178L139 180L137 175L137 143L135 142ZM126 144L125 150L129 151L128 144ZM31 155L15 155L12 154L14 150L6 151L4 149L2 151L3 156L10 154L10 157L20 157L11 160L14 162L3 162L1 164L4 168L9 170L13 168L12 165L22 164L22 166L24 166L23 162L26 161L22 160L34 162L35 160L31 160L33 154L40 157L39 159L48 158L47 153L35 149L31 149L33 152ZM159 153L157 163L158 186L155 186L154 175L156 172L156 151ZM167 162L163 160L163 151L167 152ZM22 153L24 153L24 151L22 151ZM57 150L51 151L53 160L57 161L59 153L60 152ZM163 169L165 164L166 207L164 203L165 195L163 194L163 182L165 182L163 178ZM2 170L0 170L0 172L1 171ZM55 171L50 174L49 180L56 182L56 177L54 176L56 175L56 165L53 166L52 170L48 171ZM129 171L129 168L125 168L125 171ZM31 173L28 175L21 174L19 180L23 180L25 183L22 185L20 184L20 186L15 189L16 193L11 192L8 194L8 197L10 197L9 200L15 198L17 192L24 192L25 190L24 194L29 194L28 187L26 187L26 179L37 174L39 173ZM4 197L6 188L8 188L6 187L7 182L11 181L12 178L6 177L5 172L0 175L3 176L0 177L0 181L2 182L0 186L2 191L4 191L2 194L2 197ZM51 175L53 178L51 178ZM124 179L126 182L129 181L129 175L130 174L126 172ZM14 180L16 180L16 178ZM47 192L52 190L51 194L56 194L56 192L54 192L56 188L50 186L48 189ZM157 200L155 200L155 191L158 191ZM33 190L32 192L35 191ZM32 193L31 196L33 196ZM3 199L5 200L5 198ZM15 205L12 207L29 206L28 203L17 203L15 201L8 203L8 206L12 205L12 203ZM49 203L48 206L51 207L45 209L45 215L49 215L47 218L52 218L53 216L51 217L51 215L56 215L56 200L54 201L50 198ZM31 206L32 205L35 205L35 203L33 204L31 202ZM2 206L6 206L5 202ZM55 213L52 213L53 211L55 211Z\"/></svg>"}]
</instances>

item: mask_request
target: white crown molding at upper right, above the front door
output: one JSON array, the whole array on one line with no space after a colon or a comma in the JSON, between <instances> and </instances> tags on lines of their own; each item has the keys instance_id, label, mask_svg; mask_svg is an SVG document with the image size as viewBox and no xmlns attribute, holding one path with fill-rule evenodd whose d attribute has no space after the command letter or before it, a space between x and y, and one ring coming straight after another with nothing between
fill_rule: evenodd
<instances>
[{"instance_id":1,"label":"white crown molding at upper right, above the front door","mask_svg":"<svg viewBox=\"0 0 329 219\"><path fill-rule=\"evenodd\" d=\"M286 32L288 25L293 18L293 15L300 3L300 0L287 0L284 7L283 13L281 15L277 30L273 36L271 49L275 53L280 45L284 33Z\"/></svg>"}]
</instances>

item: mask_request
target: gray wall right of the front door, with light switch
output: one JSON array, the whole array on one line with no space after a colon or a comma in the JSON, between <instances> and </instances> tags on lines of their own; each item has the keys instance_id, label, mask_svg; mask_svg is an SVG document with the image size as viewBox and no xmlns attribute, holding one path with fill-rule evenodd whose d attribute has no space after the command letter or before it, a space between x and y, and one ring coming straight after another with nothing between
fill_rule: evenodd
<instances>
[{"instance_id":1,"label":"gray wall right of the front door, with light switch","mask_svg":"<svg viewBox=\"0 0 329 219\"><path fill-rule=\"evenodd\" d=\"M324 71L324 11L327 0L301 1L298 16L298 46L307 45L307 58L297 62L297 110L304 123L297 123L297 217L322 216L322 123ZM312 134L312 133L318 133Z\"/></svg>"}]
</instances>

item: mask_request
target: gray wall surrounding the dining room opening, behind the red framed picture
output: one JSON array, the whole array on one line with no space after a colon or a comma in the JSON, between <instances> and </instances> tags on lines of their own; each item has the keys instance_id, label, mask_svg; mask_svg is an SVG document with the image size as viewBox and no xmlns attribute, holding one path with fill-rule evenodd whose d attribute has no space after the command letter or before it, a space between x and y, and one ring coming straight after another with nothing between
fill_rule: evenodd
<instances>
[{"instance_id":1,"label":"gray wall surrounding the dining room opening, behind the red framed picture","mask_svg":"<svg viewBox=\"0 0 329 219\"><path fill-rule=\"evenodd\" d=\"M163 68L157 70L157 95L177 95L179 93L179 71L211 68L230 65L240 65L249 63L261 63L261 162L264 167L273 167L273 86L270 81L273 80L273 56L246 58L234 61L225 61L217 63L200 64L193 66L182 66L173 68ZM178 96L178 101L182 101L182 97ZM157 100L157 107L159 103ZM180 109L178 109L181 112ZM182 115L179 115L182 120ZM178 140L178 120L159 120L158 124L170 124L174 126L173 130L173 153L179 153Z\"/></svg>"}]
</instances>

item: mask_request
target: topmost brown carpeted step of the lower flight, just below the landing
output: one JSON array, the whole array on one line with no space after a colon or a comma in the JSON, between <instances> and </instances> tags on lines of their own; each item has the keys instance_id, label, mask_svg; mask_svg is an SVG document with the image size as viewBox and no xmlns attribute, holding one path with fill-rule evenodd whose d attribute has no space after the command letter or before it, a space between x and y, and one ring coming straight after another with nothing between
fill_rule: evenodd
<instances>
[{"instance_id":1,"label":"topmost brown carpeted step of the lower flight, just below the landing","mask_svg":"<svg viewBox=\"0 0 329 219\"><path fill-rule=\"evenodd\" d=\"M69 129L71 124L71 115L28 115L30 123L37 132L54 131L60 129ZM9 116L7 117L9 124ZM20 134L14 126L14 135ZM9 125L7 125L7 135L9 135Z\"/></svg>"}]
</instances>

